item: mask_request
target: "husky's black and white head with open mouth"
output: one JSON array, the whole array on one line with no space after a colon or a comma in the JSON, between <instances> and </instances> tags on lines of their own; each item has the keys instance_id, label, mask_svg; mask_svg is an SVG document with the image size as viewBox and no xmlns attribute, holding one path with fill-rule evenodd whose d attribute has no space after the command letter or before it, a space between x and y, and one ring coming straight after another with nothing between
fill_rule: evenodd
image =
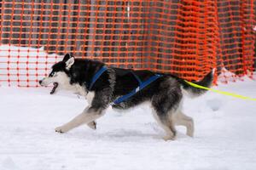
<instances>
[{"instance_id":1,"label":"husky's black and white head with open mouth","mask_svg":"<svg viewBox=\"0 0 256 170\"><path fill-rule=\"evenodd\" d=\"M70 84L69 71L74 64L74 61L75 59L73 56L66 54L62 61L52 66L49 76L40 80L39 84L41 86L48 86L50 83L53 83L54 87L52 88L50 94L54 94L61 88L66 88Z\"/></svg>"}]
</instances>

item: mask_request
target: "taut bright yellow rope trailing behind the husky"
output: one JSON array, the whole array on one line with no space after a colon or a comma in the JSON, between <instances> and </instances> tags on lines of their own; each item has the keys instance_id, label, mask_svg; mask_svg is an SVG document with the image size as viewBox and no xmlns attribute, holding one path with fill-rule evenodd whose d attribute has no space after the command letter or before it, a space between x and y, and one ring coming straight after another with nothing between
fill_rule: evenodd
<instances>
[{"instance_id":1,"label":"taut bright yellow rope trailing behind the husky","mask_svg":"<svg viewBox=\"0 0 256 170\"><path fill-rule=\"evenodd\" d=\"M224 92L224 91L220 91L220 90L216 90L216 89L212 89L212 88L207 88L207 87L195 84L193 82L188 82L186 80L185 80L185 82L187 82L190 86L193 86L195 88L201 88L201 89L205 89L205 90L210 90L210 91L218 93L218 94L224 94L224 95L232 96L232 97L238 98L238 99L248 99L248 100L256 101L256 99L253 99L253 98L250 98L250 97L246 97L246 96L242 96L242 95L239 95L239 94L231 94L229 92Z\"/></svg>"}]
</instances>

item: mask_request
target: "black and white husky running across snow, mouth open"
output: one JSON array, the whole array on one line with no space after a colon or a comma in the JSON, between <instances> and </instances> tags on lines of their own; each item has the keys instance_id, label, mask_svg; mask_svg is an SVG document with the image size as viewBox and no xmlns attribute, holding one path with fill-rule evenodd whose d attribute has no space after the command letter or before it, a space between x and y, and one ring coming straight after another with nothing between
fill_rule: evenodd
<instances>
[{"instance_id":1,"label":"black and white husky running across snow, mouth open","mask_svg":"<svg viewBox=\"0 0 256 170\"><path fill-rule=\"evenodd\" d=\"M102 72L102 75L90 87L93 77L103 66L107 70ZM213 72L211 71L200 82L195 83L210 87ZM115 99L129 94L139 86L138 77L140 80L147 80L155 74L152 71L131 71L109 67L100 61L74 59L70 54L66 54L62 61L52 66L49 77L45 77L39 83L42 86L53 83L54 88L50 94L54 94L60 89L67 89L84 96L88 100L89 106L79 116L74 117L73 120L61 127L55 128L58 133L67 133L74 127L79 127L85 123L96 129L96 119L104 115L108 106L112 105ZM175 125L185 126L187 135L192 137L194 122L191 117L183 114L183 94L198 96L205 92L206 90L191 87L181 78L162 74L161 77L149 83L148 86L132 95L131 98L112 105L112 107L125 110L149 101L157 122L166 131L164 139L175 139Z\"/></svg>"}]
</instances>

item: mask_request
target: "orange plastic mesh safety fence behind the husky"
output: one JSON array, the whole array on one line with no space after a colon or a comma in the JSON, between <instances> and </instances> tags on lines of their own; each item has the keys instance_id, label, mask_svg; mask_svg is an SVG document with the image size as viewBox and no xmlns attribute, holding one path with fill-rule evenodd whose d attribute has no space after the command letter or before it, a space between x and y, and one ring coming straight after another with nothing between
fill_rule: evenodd
<instances>
[{"instance_id":1,"label":"orange plastic mesh safety fence behind the husky","mask_svg":"<svg viewBox=\"0 0 256 170\"><path fill-rule=\"evenodd\" d=\"M253 77L253 0L2 0L0 5L0 85L37 87L66 53L189 81L213 67L224 82Z\"/></svg>"}]
</instances>

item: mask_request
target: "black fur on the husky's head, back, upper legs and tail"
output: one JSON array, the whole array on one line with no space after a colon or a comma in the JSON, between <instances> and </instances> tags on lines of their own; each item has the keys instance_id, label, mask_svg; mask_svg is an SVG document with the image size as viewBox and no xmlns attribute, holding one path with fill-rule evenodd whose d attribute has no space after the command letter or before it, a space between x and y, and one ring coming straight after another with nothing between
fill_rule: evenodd
<instances>
[{"instance_id":1,"label":"black fur on the husky's head, back, upper legs and tail","mask_svg":"<svg viewBox=\"0 0 256 170\"><path fill-rule=\"evenodd\" d=\"M134 74L142 81L156 74L152 71L131 71L108 67L108 70L102 73L102 76L96 80L93 87L89 90L92 77L94 77L96 72L99 71L104 64L96 60L75 59L73 65L67 68L66 62L70 57L69 54L66 54L61 62L53 65L53 72L63 71L67 74L67 77L69 77L71 85L79 84L79 86L84 88L85 92L93 91L95 93L88 110L89 113L96 111L98 114L102 114L102 111L115 99L137 88L139 82ZM212 84L212 77L212 72L210 72L207 77L195 83L209 87ZM175 135L176 131L170 119L170 114L175 113L180 106L180 102L183 98L182 88L190 94L195 95L200 95L205 92L203 89L191 87L181 78L163 74L163 77L151 82L146 88L143 88L130 99L125 100L119 105L113 105L113 108L125 110L145 101L149 101L156 115L159 117L160 122L170 128Z\"/></svg>"}]
</instances>

